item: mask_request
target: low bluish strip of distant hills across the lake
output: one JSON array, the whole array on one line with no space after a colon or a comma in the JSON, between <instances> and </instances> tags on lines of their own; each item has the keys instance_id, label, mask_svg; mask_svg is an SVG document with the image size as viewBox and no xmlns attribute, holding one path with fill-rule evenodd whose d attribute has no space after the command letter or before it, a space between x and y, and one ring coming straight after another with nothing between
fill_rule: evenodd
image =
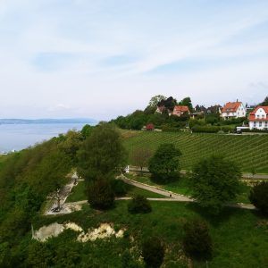
<instances>
[{"instance_id":1,"label":"low bluish strip of distant hills across the lake","mask_svg":"<svg viewBox=\"0 0 268 268\"><path fill-rule=\"evenodd\" d=\"M88 123L95 124L97 121L91 118L67 118L67 119L0 119L0 124L60 124L60 123Z\"/></svg>"}]
</instances>

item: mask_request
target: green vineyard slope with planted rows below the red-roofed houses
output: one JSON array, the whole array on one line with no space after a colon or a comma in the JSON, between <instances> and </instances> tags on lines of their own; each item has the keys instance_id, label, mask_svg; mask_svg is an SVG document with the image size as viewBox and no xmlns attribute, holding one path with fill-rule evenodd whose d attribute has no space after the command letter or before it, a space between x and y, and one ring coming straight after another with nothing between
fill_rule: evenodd
<instances>
[{"instance_id":1,"label":"green vineyard slope with planted rows below the red-roofed houses","mask_svg":"<svg viewBox=\"0 0 268 268\"><path fill-rule=\"evenodd\" d=\"M123 136L130 164L134 164L132 155L137 147L154 152L162 143L173 143L180 148L180 167L185 170L190 170L200 159L217 154L239 163L243 172L268 172L268 135L136 131Z\"/></svg>"}]
</instances>

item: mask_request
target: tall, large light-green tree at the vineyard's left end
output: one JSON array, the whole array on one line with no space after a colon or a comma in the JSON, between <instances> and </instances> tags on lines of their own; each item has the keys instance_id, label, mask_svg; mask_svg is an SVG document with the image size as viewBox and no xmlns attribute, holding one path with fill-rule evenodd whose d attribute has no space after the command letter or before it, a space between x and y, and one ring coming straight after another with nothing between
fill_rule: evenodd
<instances>
[{"instance_id":1,"label":"tall, large light-green tree at the vineyard's left end","mask_svg":"<svg viewBox=\"0 0 268 268\"><path fill-rule=\"evenodd\" d=\"M78 152L78 172L87 182L110 180L126 162L120 133L109 124L97 126Z\"/></svg>"}]
</instances>

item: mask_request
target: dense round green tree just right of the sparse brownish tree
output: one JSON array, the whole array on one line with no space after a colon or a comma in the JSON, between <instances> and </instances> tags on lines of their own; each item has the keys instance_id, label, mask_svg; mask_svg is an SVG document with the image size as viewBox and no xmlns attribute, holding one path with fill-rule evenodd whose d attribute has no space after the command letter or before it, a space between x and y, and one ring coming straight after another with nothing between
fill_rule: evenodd
<instances>
[{"instance_id":1,"label":"dense round green tree just right of the sparse brownish tree","mask_svg":"<svg viewBox=\"0 0 268 268\"><path fill-rule=\"evenodd\" d=\"M167 183L180 177L179 157L180 149L173 144L160 145L155 155L149 160L148 169L152 173L152 179L161 183Z\"/></svg>"}]
</instances>

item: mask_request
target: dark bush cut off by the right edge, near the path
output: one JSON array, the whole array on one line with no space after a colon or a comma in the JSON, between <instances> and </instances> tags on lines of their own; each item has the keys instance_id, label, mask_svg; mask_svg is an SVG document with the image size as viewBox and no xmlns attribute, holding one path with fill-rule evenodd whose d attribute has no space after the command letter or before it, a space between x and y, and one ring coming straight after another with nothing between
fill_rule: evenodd
<instances>
[{"instance_id":1,"label":"dark bush cut off by the right edge, near the path","mask_svg":"<svg viewBox=\"0 0 268 268\"><path fill-rule=\"evenodd\" d=\"M251 189L248 198L257 209L268 215L268 181L256 184Z\"/></svg>"}]
</instances>

